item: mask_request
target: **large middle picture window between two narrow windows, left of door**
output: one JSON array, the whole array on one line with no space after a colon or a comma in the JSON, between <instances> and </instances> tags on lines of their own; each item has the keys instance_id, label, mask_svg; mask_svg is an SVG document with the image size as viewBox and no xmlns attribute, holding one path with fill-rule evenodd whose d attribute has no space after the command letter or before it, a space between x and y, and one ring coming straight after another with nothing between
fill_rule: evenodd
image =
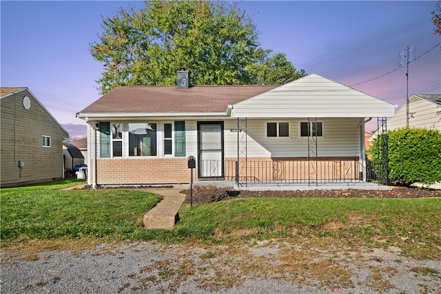
<instances>
[{"instance_id":1,"label":"large middle picture window between two narrow windows, left of door","mask_svg":"<svg viewBox=\"0 0 441 294\"><path fill-rule=\"evenodd\" d=\"M156 156L156 123L129 123L129 156Z\"/></svg>"}]
</instances>

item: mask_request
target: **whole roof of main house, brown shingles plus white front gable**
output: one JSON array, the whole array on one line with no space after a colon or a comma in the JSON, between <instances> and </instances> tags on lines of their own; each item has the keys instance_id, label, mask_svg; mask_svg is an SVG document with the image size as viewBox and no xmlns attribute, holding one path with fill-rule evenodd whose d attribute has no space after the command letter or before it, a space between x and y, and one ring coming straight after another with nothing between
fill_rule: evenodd
<instances>
[{"instance_id":1,"label":"whole roof of main house, brown shingles plus white front gable","mask_svg":"<svg viewBox=\"0 0 441 294\"><path fill-rule=\"evenodd\" d=\"M86 120L145 116L365 118L390 117L393 110L391 103L318 74L309 74L285 85L116 87L76 116Z\"/></svg>"}]
</instances>

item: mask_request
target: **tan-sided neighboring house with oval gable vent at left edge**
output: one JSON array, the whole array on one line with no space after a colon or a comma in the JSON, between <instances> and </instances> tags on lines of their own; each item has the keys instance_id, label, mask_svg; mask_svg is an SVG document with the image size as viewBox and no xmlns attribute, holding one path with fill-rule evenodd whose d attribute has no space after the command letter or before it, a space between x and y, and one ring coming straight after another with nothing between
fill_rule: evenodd
<instances>
[{"instance_id":1,"label":"tan-sided neighboring house with oval gable vent at left edge","mask_svg":"<svg viewBox=\"0 0 441 294\"><path fill-rule=\"evenodd\" d=\"M1 187L61 179L61 127L27 87L0 88Z\"/></svg>"}]
</instances>

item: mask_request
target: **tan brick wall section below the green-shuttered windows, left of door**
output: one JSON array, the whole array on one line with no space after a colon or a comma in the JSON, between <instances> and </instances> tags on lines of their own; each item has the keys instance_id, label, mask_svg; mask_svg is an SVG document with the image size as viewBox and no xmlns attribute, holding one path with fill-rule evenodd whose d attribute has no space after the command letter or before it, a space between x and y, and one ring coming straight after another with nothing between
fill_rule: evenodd
<instances>
[{"instance_id":1,"label":"tan brick wall section below the green-shuttered windows, left of door","mask_svg":"<svg viewBox=\"0 0 441 294\"><path fill-rule=\"evenodd\" d=\"M190 182L187 158L101 158L97 185L181 184ZM196 169L194 169L196 179Z\"/></svg>"}]
</instances>

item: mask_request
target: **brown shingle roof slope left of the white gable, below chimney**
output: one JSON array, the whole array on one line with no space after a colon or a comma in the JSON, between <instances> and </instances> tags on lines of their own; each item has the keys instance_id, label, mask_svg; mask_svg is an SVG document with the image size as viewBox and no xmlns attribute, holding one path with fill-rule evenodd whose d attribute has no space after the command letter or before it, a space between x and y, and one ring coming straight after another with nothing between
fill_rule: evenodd
<instances>
[{"instance_id":1,"label":"brown shingle roof slope left of the white gable, below chimney","mask_svg":"<svg viewBox=\"0 0 441 294\"><path fill-rule=\"evenodd\" d=\"M81 113L226 112L227 106L278 87L277 85L116 87Z\"/></svg>"}]
</instances>

